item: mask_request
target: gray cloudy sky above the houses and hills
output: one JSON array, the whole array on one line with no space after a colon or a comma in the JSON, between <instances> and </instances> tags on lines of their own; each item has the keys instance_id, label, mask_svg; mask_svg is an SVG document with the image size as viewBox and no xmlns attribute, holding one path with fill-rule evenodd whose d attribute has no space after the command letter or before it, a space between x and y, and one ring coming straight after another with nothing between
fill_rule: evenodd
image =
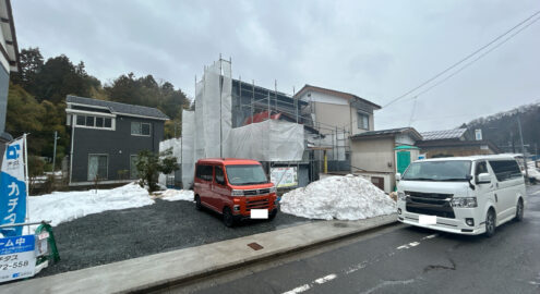
<instances>
[{"instance_id":1,"label":"gray cloudy sky above the houses and hills","mask_svg":"<svg viewBox=\"0 0 540 294\"><path fill-rule=\"evenodd\" d=\"M12 1L19 47L84 61L104 83L152 74L189 96L204 64L292 94L304 84L381 106L540 10L538 0ZM538 15L537 15L538 16ZM375 128L453 128L540 101L540 22L419 95L375 113ZM421 91L421 90L420 90ZM418 93L417 93L418 94ZM416 107L415 107L416 106ZM412 118L412 120L411 120Z\"/></svg>"}]
</instances>

